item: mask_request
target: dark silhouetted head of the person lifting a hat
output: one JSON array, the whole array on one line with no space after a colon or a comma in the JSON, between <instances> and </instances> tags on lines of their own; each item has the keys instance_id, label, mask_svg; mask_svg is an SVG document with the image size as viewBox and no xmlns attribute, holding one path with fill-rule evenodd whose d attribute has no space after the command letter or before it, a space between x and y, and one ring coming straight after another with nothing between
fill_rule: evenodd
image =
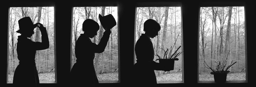
<instances>
[{"instance_id":1,"label":"dark silhouetted head of the person lifting a hat","mask_svg":"<svg viewBox=\"0 0 256 87\"><path fill-rule=\"evenodd\" d=\"M83 31L84 33L92 38L97 35L97 31L100 29L100 26L97 22L92 19L86 19L83 23Z\"/></svg>"}]
</instances>

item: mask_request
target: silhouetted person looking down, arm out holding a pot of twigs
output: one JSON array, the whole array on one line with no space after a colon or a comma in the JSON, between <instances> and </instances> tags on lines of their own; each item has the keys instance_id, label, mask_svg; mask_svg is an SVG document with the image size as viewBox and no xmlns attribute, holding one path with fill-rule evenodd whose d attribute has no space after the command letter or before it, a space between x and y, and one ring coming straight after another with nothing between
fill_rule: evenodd
<instances>
[{"instance_id":1,"label":"silhouetted person looking down, arm out holding a pot of twigs","mask_svg":"<svg viewBox=\"0 0 256 87\"><path fill-rule=\"evenodd\" d=\"M141 34L135 45L137 63L134 64L134 83L136 87L156 86L156 75L154 70L164 70L159 63L153 61L154 48L150 38L158 35L160 24L153 19L144 23L145 34ZM170 70L165 70L170 71Z\"/></svg>"}]
</instances>

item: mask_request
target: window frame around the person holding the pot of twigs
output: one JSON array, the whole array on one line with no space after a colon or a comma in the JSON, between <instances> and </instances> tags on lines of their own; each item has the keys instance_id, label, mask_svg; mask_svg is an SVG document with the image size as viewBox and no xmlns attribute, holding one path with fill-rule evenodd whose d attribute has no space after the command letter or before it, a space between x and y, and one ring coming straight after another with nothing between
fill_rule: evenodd
<instances>
[{"instance_id":1,"label":"window frame around the person holding the pot of twigs","mask_svg":"<svg viewBox=\"0 0 256 87\"><path fill-rule=\"evenodd\" d=\"M137 18L137 8L138 7L180 7L181 12L181 50L183 51L183 19L182 19L182 3L181 2L136 2L135 5L135 20L134 20L134 48L136 44L136 18ZM133 64L136 62L135 51L133 52ZM157 84L181 84L184 83L184 54L182 55L181 68L182 68L182 81L157 81Z\"/></svg>"}]
</instances>

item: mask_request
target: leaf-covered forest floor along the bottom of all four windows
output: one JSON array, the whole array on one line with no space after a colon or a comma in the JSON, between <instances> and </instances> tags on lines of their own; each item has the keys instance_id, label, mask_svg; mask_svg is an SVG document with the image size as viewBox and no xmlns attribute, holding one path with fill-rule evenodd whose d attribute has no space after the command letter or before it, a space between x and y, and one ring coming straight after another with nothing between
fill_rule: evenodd
<instances>
[{"instance_id":1,"label":"leaf-covered forest floor along the bottom of all four windows","mask_svg":"<svg viewBox=\"0 0 256 87\"><path fill-rule=\"evenodd\" d=\"M13 74L8 75L8 81L13 80ZM54 73L41 73L38 75L39 81L55 81ZM113 81L118 80L118 73L105 73L105 74L97 74L99 81ZM156 77L157 81L181 81L182 73L169 73ZM227 81L229 80L245 80L245 72L240 73L229 73L227 76ZM199 81L214 81L213 75L210 73L204 73L199 75Z\"/></svg>"}]
</instances>

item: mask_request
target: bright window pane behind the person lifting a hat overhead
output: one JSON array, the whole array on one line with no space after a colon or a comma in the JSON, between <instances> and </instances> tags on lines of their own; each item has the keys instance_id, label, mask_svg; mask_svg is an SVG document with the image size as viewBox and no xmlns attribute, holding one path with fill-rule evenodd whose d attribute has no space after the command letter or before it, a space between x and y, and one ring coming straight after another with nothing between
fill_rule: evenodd
<instances>
[{"instance_id":1,"label":"bright window pane behind the person lifting a hat overhead","mask_svg":"<svg viewBox=\"0 0 256 87\"><path fill-rule=\"evenodd\" d=\"M99 14L112 14L116 20L116 26L112 28L107 46L103 53L95 53L94 68L99 81L118 80L118 33L117 33L117 7L74 7L72 27L72 67L76 63L75 44L80 34L83 34L82 24L85 19L93 19L100 25L97 36L91 38L92 43L98 44L103 35L103 27L100 24ZM102 15L102 16L104 16ZM103 32L100 32L101 29Z\"/></svg>"}]
</instances>

